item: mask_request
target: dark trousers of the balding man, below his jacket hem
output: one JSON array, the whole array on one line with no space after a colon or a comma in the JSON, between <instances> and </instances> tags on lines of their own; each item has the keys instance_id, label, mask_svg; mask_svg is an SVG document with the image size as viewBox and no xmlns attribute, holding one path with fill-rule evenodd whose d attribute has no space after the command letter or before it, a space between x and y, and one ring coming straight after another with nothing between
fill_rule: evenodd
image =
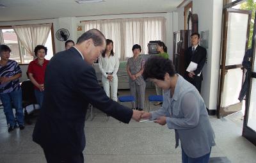
<instances>
[{"instance_id":1,"label":"dark trousers of the balding man, below his jacket hem","mask_svg":"<svg viewBox=\"0 0 256 163\"><path fill-rule=\"evenodd\" d=\"M77 154L56 153L44 150L47 163L84 163L83 152Z\"/></svg>"}]
</instances>

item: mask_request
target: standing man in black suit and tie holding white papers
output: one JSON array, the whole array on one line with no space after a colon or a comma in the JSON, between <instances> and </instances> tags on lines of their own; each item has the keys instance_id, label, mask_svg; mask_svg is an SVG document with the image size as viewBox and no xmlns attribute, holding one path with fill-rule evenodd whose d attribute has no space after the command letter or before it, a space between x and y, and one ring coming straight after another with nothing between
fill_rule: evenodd
<instances>
[{"instance_id":1,"label":"standing man in black suit and tie holding white papers","mask_svg":"<svg viewBox=\"0 0 256 163\"><path fill-rule=\"evenodd\" d=\"M199 33L191 34L191 47L185 51L185 70L187 70L191 62L196 63L197 67L193 71L185 72L185 79L193 84L196 89L201 92L201 84L203 80L202 69L206 59L206 49L198 45L200 41Z\"/></svg>"}]
</instances>

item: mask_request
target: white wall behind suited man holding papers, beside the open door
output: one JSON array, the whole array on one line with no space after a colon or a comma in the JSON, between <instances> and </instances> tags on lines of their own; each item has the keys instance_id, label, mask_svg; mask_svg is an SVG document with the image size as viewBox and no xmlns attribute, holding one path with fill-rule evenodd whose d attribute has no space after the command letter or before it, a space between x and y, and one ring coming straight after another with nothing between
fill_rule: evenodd
<instances>
[{"instance_id":1,"label":"white wall behind suited man holding papers, beside the open door","mask_svg":"<svg viewBox=\"0 0 256 163\"><path fill-rule=\"evenodd\" d=\"M184 29L184 7L177 11L178 29ZM204 66L202 97L209 110L216 110L220 67L222 0L193 0L193 13L198 15L198 32L209 30L207 64Z\"/></svg>"}]
</instances>

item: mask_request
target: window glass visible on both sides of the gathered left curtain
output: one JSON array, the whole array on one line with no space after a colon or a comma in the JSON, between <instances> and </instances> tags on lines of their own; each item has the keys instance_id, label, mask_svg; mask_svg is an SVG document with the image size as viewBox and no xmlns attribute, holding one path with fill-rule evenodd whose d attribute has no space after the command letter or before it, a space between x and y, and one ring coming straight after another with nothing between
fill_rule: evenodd
<instances>
[{"instance_id":1,"label":"window glass visible on both sides of the gathered left curtain","mask_svg":"<svg viewBox=\"0 0 256 163\"><path fill-rule=\"evenodd\" d=\"M8 45L10 49L12 50L10 54L10 59L17 61L18 63L29 63L30 61L33 61L33 56L27 52L27 50L24 48L22 43L20 43L19 39L17 38L17 35L13 28L10 27L1 27L0 32L3 35L2 43L5 45ZM45 59L51 59L53 56L53 49L52 49L52 30L50 31L47 41L44 45L47 47L47 55L45 56Z\"/></svg>"}]
</instances>

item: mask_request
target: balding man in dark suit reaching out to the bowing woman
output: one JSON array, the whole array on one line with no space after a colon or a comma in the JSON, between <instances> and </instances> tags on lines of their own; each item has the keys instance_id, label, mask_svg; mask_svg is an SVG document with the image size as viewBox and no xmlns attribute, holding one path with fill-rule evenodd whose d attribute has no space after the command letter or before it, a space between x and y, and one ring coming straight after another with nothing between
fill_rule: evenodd
<instances>
[{"instance_id":1,"label":"balding man in dark suit reaching out to the bowing woman","mask_svg":"<svg viewBox=\"0 0 256 163\"><path fill-rule=\"evenodd\" d=\"M88 104L124 123L139 121L141 111L108 98L92 67L106 47L97 29L86 31L77 44L58 52L45 71L45 95L33 141L40 144L47 162L84 162L84 121Z\"/></svg>"}]
</instances>

